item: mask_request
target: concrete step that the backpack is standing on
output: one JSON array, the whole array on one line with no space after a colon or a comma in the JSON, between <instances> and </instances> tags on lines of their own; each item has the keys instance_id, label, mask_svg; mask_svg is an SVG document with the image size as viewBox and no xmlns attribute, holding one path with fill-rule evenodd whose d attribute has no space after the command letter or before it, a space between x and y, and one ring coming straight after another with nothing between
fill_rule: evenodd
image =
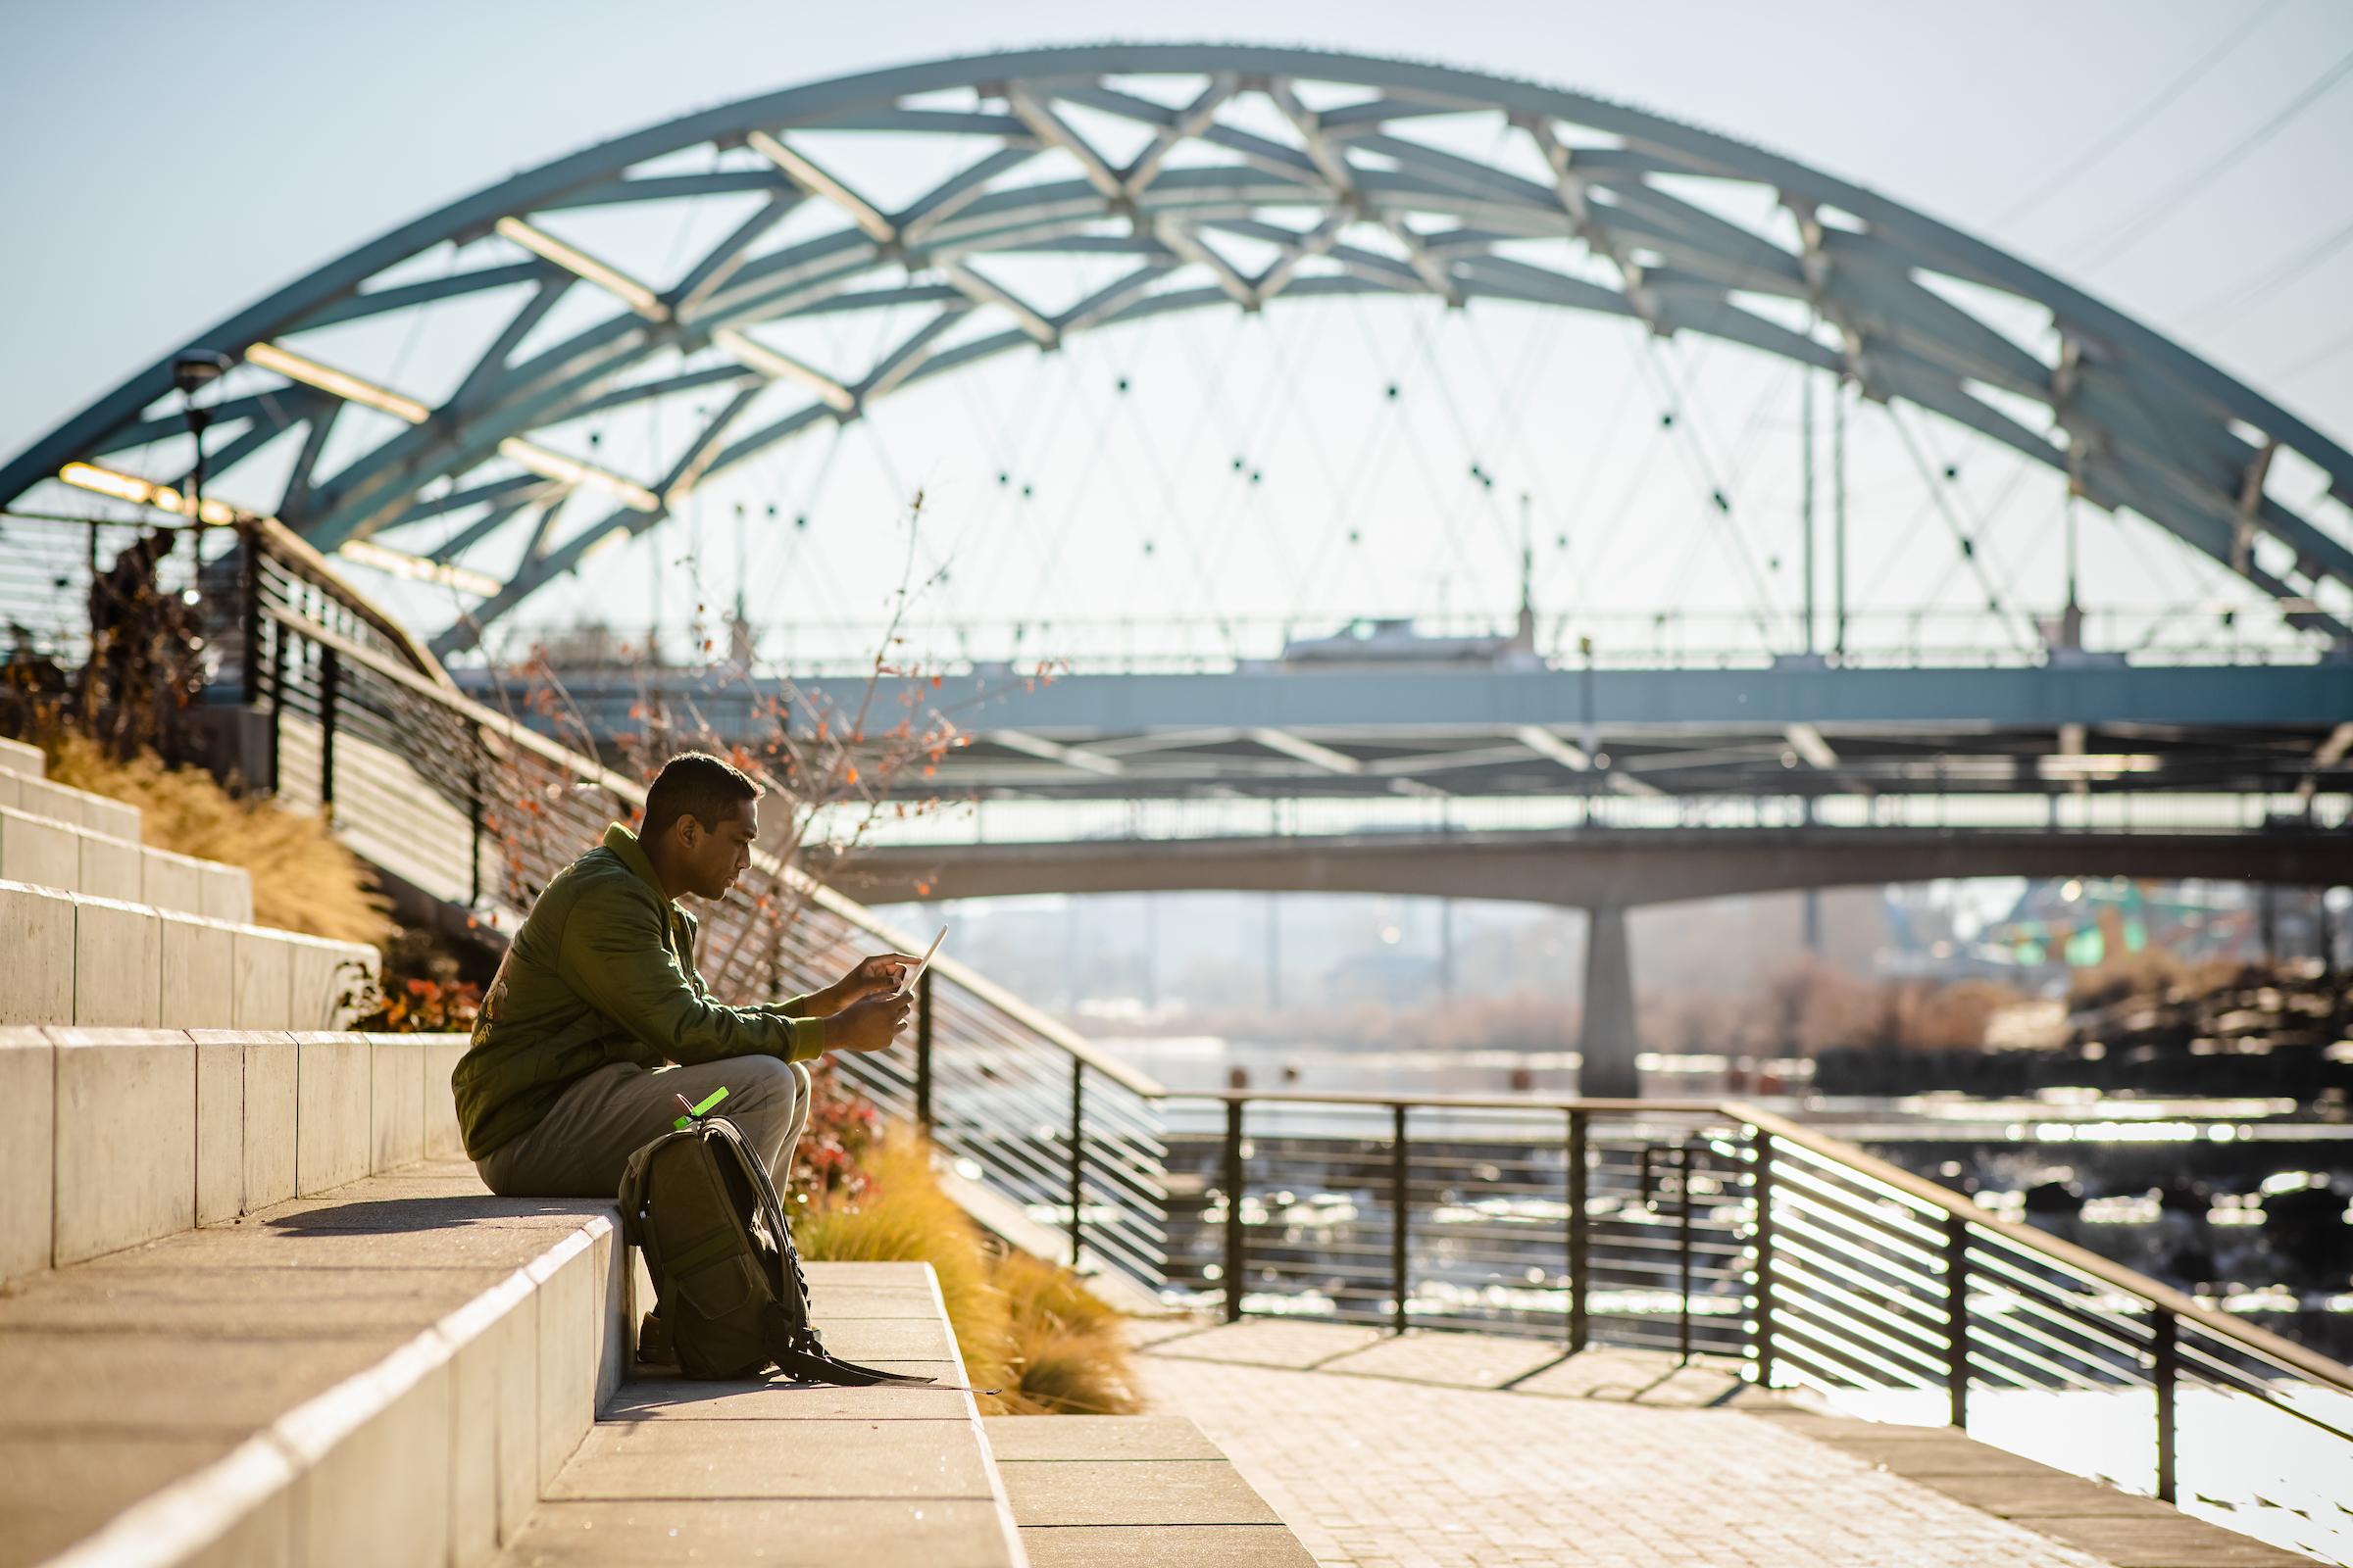
<instances>
[{"instance_id":1,"label":"concrete step that the backpack is standing on","mask_svg":"<svg viewBox=\"0 0 2353 1568\"><path fill-rule=\"evenodd\" d=\"M946 1387L624 1382L499 1563L1024 1563L932 1269L816 1262L809 1288L835 1354Z\"/></svg>"}]
</instances>

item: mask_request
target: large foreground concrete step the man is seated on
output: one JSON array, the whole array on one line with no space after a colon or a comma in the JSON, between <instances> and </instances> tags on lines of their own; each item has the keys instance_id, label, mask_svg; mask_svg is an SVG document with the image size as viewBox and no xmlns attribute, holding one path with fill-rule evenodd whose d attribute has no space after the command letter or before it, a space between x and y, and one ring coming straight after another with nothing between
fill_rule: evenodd
<instances>
[{"instance_id":1,"label":"large foreground concrete step the man is seated on","mask_svg":"<svg viewBox=\"0 0 2353 1568\"><path fill-rule=\"evenodd\" d=\"M362 1178L0 1298L0 1568L482 1563L619 1382L609 1204Z\"/></svg>"}]
</instances>

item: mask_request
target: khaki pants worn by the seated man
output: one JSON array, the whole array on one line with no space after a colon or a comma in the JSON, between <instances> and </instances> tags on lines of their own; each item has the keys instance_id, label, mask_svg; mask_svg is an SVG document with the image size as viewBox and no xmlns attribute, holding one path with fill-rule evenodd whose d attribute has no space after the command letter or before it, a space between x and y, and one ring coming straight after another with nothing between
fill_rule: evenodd
<instances>
[{"instance_id":1,"label":"khaki pants worn by the seated man","mask_svg":"<svg viewBox=\"0 0 2353 1568\"><path fill-rule=\"evenodd\" d=\"M793 1145L809 1124L809 1070L774 1056L729 1056L699 1067L598 1067L548 1110L532 1131L473 1161L482 1182L508 1199L609 1199L621 1168L640 1147L671 1131L692 1105L727 1086L711 1112L727 1117L767 1164L776 1192L791 1187Z\"/></svg>"}]
</instances>

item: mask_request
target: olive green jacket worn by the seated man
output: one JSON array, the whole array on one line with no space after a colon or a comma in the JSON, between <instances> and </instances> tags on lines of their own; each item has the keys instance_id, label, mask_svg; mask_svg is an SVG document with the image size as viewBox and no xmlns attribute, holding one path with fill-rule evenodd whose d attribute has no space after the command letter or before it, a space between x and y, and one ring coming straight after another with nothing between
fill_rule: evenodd
<instances>
[{"instance_id":1,"label":"olive green jacket worn by the seated man","mask_svg":"<svg viewBox=\"0 0 2353 1568\"><path fill-rule=\"evenodd\" d=\"M489 983L449 1079L466 1157L539 1126L565 1088L609 1063L814 1060L826 1023L795 1016L805 1004L713 1001L694 971L694 917L664 896L638 835L614 823L539 893Z\"/></svg>"}]
</instances>

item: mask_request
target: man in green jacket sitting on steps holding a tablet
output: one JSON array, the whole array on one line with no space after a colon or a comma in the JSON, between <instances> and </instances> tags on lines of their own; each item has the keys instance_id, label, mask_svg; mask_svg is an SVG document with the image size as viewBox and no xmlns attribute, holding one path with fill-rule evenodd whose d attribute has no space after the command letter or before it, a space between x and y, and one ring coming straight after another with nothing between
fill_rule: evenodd
<instances>
[{"instance_id":1,"label":"man in green jacket sitting on steps holding a tablet","mask_svg":"<svg viewBox=\"0 0 2353 1568\"><path fill-rule=\"evenodd\" d=\"M678 1119L678 1095L701 1105L720 1086L720 1114L784 1192L809 1119L800 1063L882 1051L906 1023L899 983L915 959L901 952L772 1006L711 999L675 898L722 898L744 875L758 799L718 757L671 757L642 832L614 823L539 893L452 1077L466 1157L499 1197L609 1199L628 1157Z\"/></svg>"}]
</instances>

